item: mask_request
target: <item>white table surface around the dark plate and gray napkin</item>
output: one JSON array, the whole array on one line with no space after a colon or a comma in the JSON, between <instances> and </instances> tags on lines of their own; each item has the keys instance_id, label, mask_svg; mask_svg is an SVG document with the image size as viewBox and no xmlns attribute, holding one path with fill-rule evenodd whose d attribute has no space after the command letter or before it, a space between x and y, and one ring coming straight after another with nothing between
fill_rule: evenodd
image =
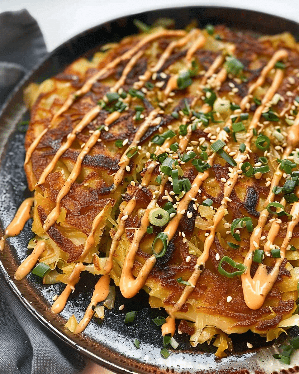
<instances>
[{"instance_id":1,"label":"white table surface around the dark plate and gray napkin","mask_svg":"<svg viewBox=\"0 0 299 374\"><path fill-rule=\"evenodd\" d=\"M144 10L185 5L218 5L243 7L272 13L299 22L298 0L0 0L0 12L27 9L36 18L50 52L81 31L119 16ZM83 374L109 374L110 372L87 360Z\"/></svg>"}]
</instances>

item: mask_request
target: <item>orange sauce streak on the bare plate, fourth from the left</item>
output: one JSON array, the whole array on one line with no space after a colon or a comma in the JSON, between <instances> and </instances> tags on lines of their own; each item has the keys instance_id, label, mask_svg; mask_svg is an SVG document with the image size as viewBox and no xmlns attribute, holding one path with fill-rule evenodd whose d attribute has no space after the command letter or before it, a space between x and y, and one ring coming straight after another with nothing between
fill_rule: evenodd
<instances>
[{"instance_id":1,"label":"orange sauce streak on the bare plate, fourth from the left","mask_svg":"<svg viewBox=\"0 0 299 374\"><path fill-rule=\"evenodd\" d=\"M86 326L89 324L92 316L94 315L94 307L100 301L105 300L105 298L109 294L109 283L110 283L110 276L109 275L102 275L101 278L95 285L95 290L93 291L92 298L90 300L89 306L86 309L84 317L78 323L77 327L75 328L74 334L80 334Z\"/></svg>"}]
</instances>

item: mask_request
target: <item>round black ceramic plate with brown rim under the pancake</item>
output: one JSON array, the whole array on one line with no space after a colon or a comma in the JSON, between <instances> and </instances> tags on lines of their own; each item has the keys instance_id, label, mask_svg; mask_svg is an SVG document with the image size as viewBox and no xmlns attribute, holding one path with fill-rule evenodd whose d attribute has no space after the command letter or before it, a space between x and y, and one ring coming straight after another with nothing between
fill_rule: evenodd
<instances>
[{"instance_id":1,"label":"round black ceramic plate with brown rim under the pancake","mask_svg":"<svg viewBox=\"0 0 299 374\"><path fill-rule=\"evenodd\" d=\"M27 182L23 171L24 136L16 131L16 124L21 119L28 119L29 114L22 99L24 88L31 82L42 82L44 79L61 72L68 64L81 55L92 56L96 48L107 42L116 42L124 36L136 33L132 21L135 18L152 24L155 19L169 17L176 20L177 28L184 28L192 19L197 19L200 27L207 23L226 24L230 27L251 30L263 34L276 34L290 31L299 39L299 24L286 19L249 10L224 7L181 7L154 10L128 17L118 18L97 27L91 28L62 46L58 47L41 64L28 74L15 89L0 117L0 151L2 153L0 169L0 219L6 227L13 218L16 209L28 196ZM50 312L52 297L59 294L63 284L43 286L37 277L29 275L21 282L13 280L18 264L27 255L27 243L32 237L31 222L15 238L7 240L4 251L0 254L1 271L9 286L27 309L62 340L71 344L86 356L89 356L104 367L118 373L294 373L299 371L299 354L292 358L292 367L281 366L280 361L272 358L278 353L274 344L266 343L259 335L248 333L234 335L234 354L222 360L215 360L215 347L207 344L192 348L188 337L178 335L180 343L177 350L171 350L168 359L160 356L162 347L161 329L156 327L151 318L163 315L148 306L148 296L139 292L136 297L127 300L117 292L113 310L105 310L105 319L93 319L84 333L73 335L64 329L67 319L74 313L80 319L86 309L96 278L84 274L71 295L67 307L60 315ZM124 304L122 311L118 307ZM126 312L138 310L137 319L131 324L124 324ZM291 336L296 334L293 328ZM134 339L140 341L140 349L134 346ZM246 342L253 344L254 349L247 349Z\"/></svg>"}]
</instances>

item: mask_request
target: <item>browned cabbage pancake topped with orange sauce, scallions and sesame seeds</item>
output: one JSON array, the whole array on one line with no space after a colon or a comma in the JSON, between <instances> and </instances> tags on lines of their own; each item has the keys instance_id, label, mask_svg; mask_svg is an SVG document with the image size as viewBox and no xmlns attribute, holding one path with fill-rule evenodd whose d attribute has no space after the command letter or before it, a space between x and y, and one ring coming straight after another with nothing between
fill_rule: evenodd
<instances>
[{"instance_id":1,"label":"browned cabbage pancake topped with orange sauce, scallions and sesame seeds","mask_svg":"<svg viewBox=\"0 0 299 374\"><path fill-rule=\"evenodd\" d=\"M298 324L298 85L290 34L223 26L151 28L31 85L36 237L16 278L44 264L67 284L59 313L80 272L102 275L75 333L103 312L108 275L126 298L144 288L164 336L182 319L220 357L227 334Z\"/></svg>"}]
</instances>

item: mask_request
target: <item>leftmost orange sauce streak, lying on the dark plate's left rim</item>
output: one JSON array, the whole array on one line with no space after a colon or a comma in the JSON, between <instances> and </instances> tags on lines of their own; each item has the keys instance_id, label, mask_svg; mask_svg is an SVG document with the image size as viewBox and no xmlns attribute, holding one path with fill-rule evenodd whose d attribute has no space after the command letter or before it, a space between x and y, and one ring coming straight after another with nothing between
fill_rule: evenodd
<instances>
[{"instance_id":1,"label":"leftmost orange sauce streak, lying on the dark plate's left rim","mask_svg":"<svg viewBox=\"0 0 299 374\"><path fill-rule=\"evenodd\" d=\"M23 230L25 223L30 218L30 211L33 206L33 203L34 197L28 197L19 206L19 209L17 210L15 217L13 218L12 222L7 226L4 236L1 237L0 251L3 251L4 249L4 241L7 237L19 235L19 233Z\"/></svg>"}]
</instances>

